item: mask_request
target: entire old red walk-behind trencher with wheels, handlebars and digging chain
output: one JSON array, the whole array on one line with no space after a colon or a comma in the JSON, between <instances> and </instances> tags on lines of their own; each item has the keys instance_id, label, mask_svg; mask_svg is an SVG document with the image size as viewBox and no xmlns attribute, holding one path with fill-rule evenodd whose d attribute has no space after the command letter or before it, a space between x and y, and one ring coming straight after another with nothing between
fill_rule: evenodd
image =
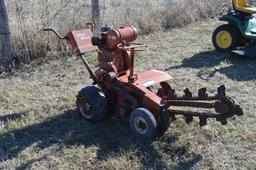
<instances>
[{"instance_id":1,"label":"entire old red walk-behind trencher with wheels, handlebars and digging chain","mask_svg":"<svg viewBox=\"0 0 256 170\"><path fill-rule=\"evenodd\" d=\"M143 44L134 43L138 32L134 27L102 28L99 36L93 36L93 25L83 30L72 31L61 37L80 56L90 74L93 86L82 89L77 96L78 112L89 122L97 123L107 116L119 117L129 123L132 132L142 140L161 136L170 122L182 115L187 123L199 117L201 126L208 118L227 124L227 118L243 115L239 105L227 97L225 87L217 94L208 96L206 88L193 96L189 89L178 97L167 83L173 78L162 71L134 71L135 53L144 50ZM98 52L99 68L93 72L86 61L86 53ZM209 109L205 112L182 111L184 108ZM114 113L114 114L113 114Z\"/></svg>"}]
</instances>

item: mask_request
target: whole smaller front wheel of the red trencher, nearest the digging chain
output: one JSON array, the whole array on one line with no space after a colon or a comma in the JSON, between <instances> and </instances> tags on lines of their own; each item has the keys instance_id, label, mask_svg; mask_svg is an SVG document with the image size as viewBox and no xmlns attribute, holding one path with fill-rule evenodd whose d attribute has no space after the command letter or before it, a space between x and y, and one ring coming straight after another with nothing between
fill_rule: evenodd
<instances>
[{"instance_id":1,"label":"whole smaller front wheel of the red trencher, nearest the digging chain","mask_svg":"<svg viewBox=\"0 0 256 170\"><path fill-rule=\"evenodd\" d=\"M147 141L156 136L157 122L149 110L138 108L131 114L130 128L137 138Z\"/></svg>"}]
</instances>

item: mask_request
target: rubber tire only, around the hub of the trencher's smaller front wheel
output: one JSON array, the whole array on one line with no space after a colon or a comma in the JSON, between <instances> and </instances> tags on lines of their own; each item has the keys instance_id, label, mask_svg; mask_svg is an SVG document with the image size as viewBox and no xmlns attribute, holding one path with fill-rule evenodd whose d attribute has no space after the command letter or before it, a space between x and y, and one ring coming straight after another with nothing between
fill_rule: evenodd
<instances>
[{"instance_id":1,"label":"rubber tire only, around the hub of the trencher's smaller front wheel","mask_svg":"<svg viewBox=\"0 0 256 170\"><path fill-rule=\"evenodd\" d=\"M142 117L148 124L148 130L145 134L139 133L134 127L134 121L137 117ZM157 133L157 122L154 115L145 108L138 108L131 113L130 116L130 128L133 134L142 141L149 141L156 136Z\"/></svg>"}]
</instances>

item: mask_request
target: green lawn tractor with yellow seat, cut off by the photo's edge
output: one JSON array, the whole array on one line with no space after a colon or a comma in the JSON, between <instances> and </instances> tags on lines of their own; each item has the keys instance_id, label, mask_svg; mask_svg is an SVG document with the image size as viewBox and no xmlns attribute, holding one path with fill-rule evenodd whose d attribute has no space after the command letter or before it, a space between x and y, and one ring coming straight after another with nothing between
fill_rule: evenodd
<instances>
[{"instance_id":1,"label":"green lawn tractor with yellow seat, cut off by the photo's edge","mask_svg":"<svg viewBox=\"0 0 256 170\"><path fill-rule=\"evenodd\" d=\"M246 0L232 0L234 10L219 20L227 24L219 26L212 41L216 50L233 52L245 57L256 58L256 7Z\"/></svg>"}]
</instances>

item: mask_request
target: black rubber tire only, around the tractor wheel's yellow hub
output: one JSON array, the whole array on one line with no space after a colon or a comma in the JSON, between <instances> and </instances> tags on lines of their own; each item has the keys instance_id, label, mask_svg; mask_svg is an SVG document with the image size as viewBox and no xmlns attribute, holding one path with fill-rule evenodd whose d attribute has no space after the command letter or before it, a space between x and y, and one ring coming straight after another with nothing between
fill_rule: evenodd
<instances>
[{"instance_id":1,"label":"black rubber tire only, around the tractor wheel's yellow hub","mask_svg":"<svg viewBox=\"0 0 256 170\"><path fill-rule=\"evenodd\" d=\"M232 43L228 48L224 49L217 45L216 36L220 31L227 31L231 34ZM241 42L241 33L239 32L239 30L237 28L235 28L234 26L232 26L230 24L221 25L221 26L217 27L212 35L212 43L213 43L214 48L217 51L229 52L229 51L235 49L240 44L240 42Z\"/></svg>"}]
</instances>

